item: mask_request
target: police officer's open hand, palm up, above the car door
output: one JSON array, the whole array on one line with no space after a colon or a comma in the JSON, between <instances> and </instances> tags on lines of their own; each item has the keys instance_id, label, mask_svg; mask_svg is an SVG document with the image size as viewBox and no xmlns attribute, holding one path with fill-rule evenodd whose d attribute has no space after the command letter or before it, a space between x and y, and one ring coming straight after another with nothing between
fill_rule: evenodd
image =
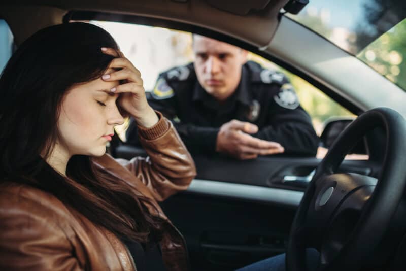
<instances>
[{"instance_id":1,"label":"police officer's open hand, palm up, above the car door","mask_svg":"<svg viewBox=\"0 0 406 271\"><path fill-rule=\"evenodd\" d=\"M248 134L257 131L258 127L249 122L231 120L224 123L217 134L216 151L242 160L285 151L277 142L253 138Z\"/></svg>"}]
</instances>

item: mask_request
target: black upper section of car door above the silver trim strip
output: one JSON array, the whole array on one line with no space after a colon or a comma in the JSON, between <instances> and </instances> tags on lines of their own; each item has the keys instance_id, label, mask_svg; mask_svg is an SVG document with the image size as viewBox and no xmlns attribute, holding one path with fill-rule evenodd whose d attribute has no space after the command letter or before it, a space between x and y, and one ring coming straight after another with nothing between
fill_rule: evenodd
<instances>
[{"instance_id":1,"label":"black upper section of car door above the silver trim strip","mask_svg":"<svg viewBox=\"0 0 406 271\"><path fill-rule=\"evenodd\" d=\"M115 148L115 157L131 159L146 156L139 147L121 145ZM262 156L252 160L236 160L220 155L193 155L197 168L196 179L277 187L304 191L306 185L296 186L284 182L286 176L308 177L321 159L315 157L288 157L283 155ZM377 177L379 162L370 160L344 160L339 172L352 172Z\"/></svg>"}]
</instances>

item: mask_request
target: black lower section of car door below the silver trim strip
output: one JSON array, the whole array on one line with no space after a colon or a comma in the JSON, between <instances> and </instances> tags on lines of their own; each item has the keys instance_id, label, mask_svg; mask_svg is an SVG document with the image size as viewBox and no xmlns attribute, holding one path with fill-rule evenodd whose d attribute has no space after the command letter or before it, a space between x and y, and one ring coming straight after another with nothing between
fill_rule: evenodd
<instances>
[{"instance_id":1,"label":"black lower section of car door below the silver trim strip","mask_svg":"<svg viewBox=\"0 0 406 271\"><path fill-rule=\"evenodd\" d=\"M234 270L283 253L295 208L181 192L161 203L186 239L192 270Z\"/></svg>"}]
</instances>

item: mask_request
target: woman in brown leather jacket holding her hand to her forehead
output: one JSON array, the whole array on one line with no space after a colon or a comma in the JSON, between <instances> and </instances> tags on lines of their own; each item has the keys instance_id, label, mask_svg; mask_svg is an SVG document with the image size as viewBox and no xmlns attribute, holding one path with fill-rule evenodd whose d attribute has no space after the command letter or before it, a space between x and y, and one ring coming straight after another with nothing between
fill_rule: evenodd
<instances>
[{"instance_id":1,"label":"woman in brown leather jacket holding her hand to her forehead","mask_svg":"<svg viewBox=\"0 0 406 271\"><path fill-rule=\"evenodd\" d=\"M187 269L157 201L187 188L193 160L109 33L40 30L11 57L0 93L0 269ZM123 116L148 158L105 154Z\"/></svg>"}]
</instances>

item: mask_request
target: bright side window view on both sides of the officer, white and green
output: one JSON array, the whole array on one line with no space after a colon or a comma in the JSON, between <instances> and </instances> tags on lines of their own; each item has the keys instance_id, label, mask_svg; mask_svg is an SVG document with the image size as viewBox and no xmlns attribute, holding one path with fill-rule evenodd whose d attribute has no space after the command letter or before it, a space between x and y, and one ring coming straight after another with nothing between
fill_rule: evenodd
<instances>
[{"instance_id":1,"label":"bright side window view on both sides of the officer, white and green","mask_svg":"<svg viewBox=\"0 0 406 271\"><path fill-rule=\"evenodd\" d=\"M191 33L128 23L105 21L91 21L91 23L111 33L121 51L140 70L146 91L154 88L159 73L193 61ZM253 53L249 53L248 58L260 63L263 67L281 71L287 75L296 90L301 106L310 114L319 136L329 118L355 117L322 91L275 63ZM124 124L117 130L124 141L126 126L127 124ZM322 152L318 156L322 157L324 154L325 152Z\"/></svg>"}]
</instances>

